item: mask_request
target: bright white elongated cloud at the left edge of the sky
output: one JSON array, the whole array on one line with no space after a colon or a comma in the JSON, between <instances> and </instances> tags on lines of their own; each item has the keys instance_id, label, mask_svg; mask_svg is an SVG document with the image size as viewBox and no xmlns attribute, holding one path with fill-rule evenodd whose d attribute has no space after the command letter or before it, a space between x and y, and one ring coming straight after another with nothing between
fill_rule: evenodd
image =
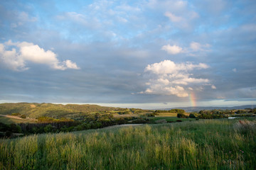
<instances>
[{"instance_id":1,"label":"bright white elongated cloud at the left edge of the sky","mask_svg":"<svg viewBox=\"0 0 256 170\"><path fill-rule=\"evenodd\" d=\"M6 50L6 47L9 48L10 46L14 48ZM11 42L9 40L4 44L0 44L0 60L5 67L14 71L28 69L26 62L46 64L52 69L80 69L75 62L70 60L60 62L54 52L46 51L30 42Z\"/></svg>"}]
</instances>

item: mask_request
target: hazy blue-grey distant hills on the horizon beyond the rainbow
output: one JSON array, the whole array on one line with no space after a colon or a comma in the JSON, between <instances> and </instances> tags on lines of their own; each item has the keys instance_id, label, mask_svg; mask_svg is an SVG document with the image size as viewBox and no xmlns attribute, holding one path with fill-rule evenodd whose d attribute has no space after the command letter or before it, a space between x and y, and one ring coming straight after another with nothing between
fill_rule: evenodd
<instances>
[{"instance_id":1,"label":"hazy blue-grey distant hills on the horizon beyond the rainbow","mask_svg":"<svg viewBox=\"0 0 256 170\"><path fill-rule=\"evenodd\" d=\"M238 110L238 109L245 109L245 108L252 108L251 105L244 105L244 106L233 106L233 107L201 107L201 106L198 106L198 107L177 107L177 108L180 108L180 109L183 109L184 111L186 112L198 112L198 111L202 111L202 110L213 110L213 109L221 109L221 110ZM253 107L255 108L255 106ZM164 110L164 111L168 111L168 110L171 110L171 109L174 109L174 108L159 108L157 110Z\"/></svg>"}]
</instances>

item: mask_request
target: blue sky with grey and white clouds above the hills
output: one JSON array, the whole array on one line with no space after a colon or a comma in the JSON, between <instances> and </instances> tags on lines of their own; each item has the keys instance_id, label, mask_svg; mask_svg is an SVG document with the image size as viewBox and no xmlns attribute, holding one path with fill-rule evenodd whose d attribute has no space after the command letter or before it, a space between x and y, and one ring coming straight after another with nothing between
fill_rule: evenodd
<instances>
[{"instance_id":1,"label":"blue sky with grey and white clouds above the hills","mask_svg":"<svg viewBox=\"0 0 256 170\"><path fill-rule=\"evenodd\" d=\"M0 1L0 103L256 105L256 1Z\"/></svg>"}]
</instances>

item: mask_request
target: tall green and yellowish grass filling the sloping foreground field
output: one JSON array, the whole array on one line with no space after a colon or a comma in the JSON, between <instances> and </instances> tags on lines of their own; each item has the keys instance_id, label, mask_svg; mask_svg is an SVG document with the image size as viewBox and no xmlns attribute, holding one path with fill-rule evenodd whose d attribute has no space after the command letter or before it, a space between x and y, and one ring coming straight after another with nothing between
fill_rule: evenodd
<instances>
[{"instance_id":1,"label":"tall green and yellowish grass filling the sloping foreground field","mask_svg":"<svg viewBox=\"0 0 256 170\"><path fill-rule=\"evenodd\" d=\"M199 120L0 141L0 169L256 169L238 120Z\"/></svg>"}]
</instances>

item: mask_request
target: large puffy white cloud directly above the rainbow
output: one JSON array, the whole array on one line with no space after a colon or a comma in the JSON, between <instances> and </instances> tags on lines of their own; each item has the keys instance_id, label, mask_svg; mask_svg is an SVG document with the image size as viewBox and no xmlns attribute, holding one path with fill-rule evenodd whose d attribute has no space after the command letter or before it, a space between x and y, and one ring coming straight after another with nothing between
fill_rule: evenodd
<instances>
[{"instance_id":1,"label":"large puffy white cloud directly above the rainbow","mask_svg":"<svg viewBox=\"0 0 256 170\"><path fill-rule=\"evenodd\" d=\"M191 86L203 86L210 82L209 79L195 78L192 71L195 69L207 69L204 63L193 64L191 62L176 64L171 60L149 64L144 73L151 77L146 82L148 88L139 94L175 95L187 97ZM212 86L212 89L215 86Z\"/></svg>"}]
</instances>

